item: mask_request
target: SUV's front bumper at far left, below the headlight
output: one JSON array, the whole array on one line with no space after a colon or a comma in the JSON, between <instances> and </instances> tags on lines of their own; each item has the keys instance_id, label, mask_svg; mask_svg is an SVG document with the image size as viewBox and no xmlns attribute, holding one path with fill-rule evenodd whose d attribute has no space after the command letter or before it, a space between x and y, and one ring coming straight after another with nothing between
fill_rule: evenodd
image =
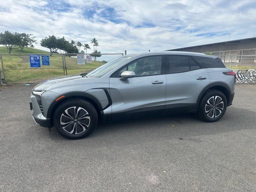
<instances>
[{"instance_id":1,"label":"SUV's front bumper at far left, below the headlight","mask_svg":"<svg viewBox=\"0 0 256 192\"><path fill-rule=\"evenodd\" d=\"M42 111L39 107L36 97L31 94L30 98L31 98L30 110L32 110L32 117L33 117L34 121L36 122L36 124L43 126L43 127L51 128L52 125L51 125L50 118L46 118L42 114Z\"/></svg>"}]
</instances>

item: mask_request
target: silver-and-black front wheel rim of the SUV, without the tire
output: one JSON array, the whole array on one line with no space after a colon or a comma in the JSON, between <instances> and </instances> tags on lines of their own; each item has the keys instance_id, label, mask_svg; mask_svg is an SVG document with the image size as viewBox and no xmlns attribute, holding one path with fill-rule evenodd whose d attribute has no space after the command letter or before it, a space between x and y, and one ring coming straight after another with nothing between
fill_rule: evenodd
<instances>
[{"instance_id":1,"label":"silver-and-black front wheel rim of the SUV, without the tire","mask_svg":"<svg viewBox=\"0 0 256 192\"><path fill-rule=\"evenodd\" d=\"M70 134L80 134L90 125L89 113L82 107L73 106L64 110L60 116L62 129Z\"/></svg>"}]
</instances>

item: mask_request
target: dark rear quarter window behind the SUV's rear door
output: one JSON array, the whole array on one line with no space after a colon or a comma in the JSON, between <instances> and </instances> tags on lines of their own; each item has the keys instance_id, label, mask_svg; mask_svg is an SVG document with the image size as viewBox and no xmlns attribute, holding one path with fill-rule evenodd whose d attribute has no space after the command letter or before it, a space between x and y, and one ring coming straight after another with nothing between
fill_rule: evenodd
<instances>
[{"instance_id":1,"label":"dark rear quarter window behind the SUV's rear door","mask_svg":"<svg viewBox=\"0 0 256 192\"><path fill-rule=\"evenodd\" d=\"M202 66L202 68L224 68L226 67L221 58L210 58L210 57L200 57L193 56L193 58Z\"/></svg>"}]
</instances>

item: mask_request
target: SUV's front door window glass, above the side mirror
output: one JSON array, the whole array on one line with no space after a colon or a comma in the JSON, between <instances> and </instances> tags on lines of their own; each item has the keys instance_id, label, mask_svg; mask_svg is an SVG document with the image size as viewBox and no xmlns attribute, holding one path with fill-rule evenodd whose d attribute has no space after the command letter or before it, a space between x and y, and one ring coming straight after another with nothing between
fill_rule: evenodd
<instances>
[{"instance_id":1,"label":"SUV's front door window glass, above the side mirror","mask_svg":"<svg viewBox=\"0 0 256 192\"><path fill-rule=\"evenodd\" d=\"M162 72L162 56L150 56L138 59L123 68L116 71L112 77L120 77L124 71L134 71L136 76L148 76L163 74Z\"/></svg>"}]
</instances>

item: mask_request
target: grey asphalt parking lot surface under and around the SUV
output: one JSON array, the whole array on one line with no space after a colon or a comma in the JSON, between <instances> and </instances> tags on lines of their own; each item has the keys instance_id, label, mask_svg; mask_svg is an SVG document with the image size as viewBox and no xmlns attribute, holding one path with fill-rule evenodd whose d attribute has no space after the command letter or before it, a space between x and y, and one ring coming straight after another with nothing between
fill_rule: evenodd
<instances>
[{"instance_id":1,"label":"grey asphalt parking lot surface under and around the SUV","mask_svg":"<svg viewBox=\"0 0 256 192\"><path fill-rule=\"evenodd\" d=\"M32 87L0 87L0 191L255 191L256 84L236 85L215 123L150 117L82 140L34 123Z\"/></svg>"}]
</instances>

